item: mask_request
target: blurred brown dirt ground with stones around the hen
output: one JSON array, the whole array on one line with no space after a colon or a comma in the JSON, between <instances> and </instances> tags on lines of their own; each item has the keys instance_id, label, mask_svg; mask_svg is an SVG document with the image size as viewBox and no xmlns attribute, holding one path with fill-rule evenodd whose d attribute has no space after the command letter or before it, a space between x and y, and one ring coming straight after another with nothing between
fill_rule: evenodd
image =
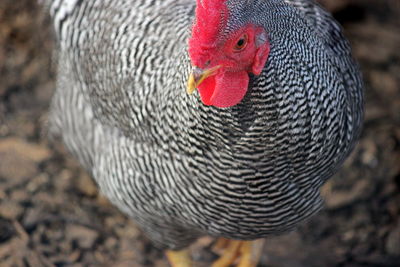
<instances>
[{"instance_id":1,"label":"blurred brown dirt ground with stones around the hen","mask_svg":"<svg viewBox=\"0 0 400 267\"><path fill-rule=\"evenodd\" d=\"M365 78L359 145L323 188L326 208L267 240L259 266L400 266L400 1L322 1ZM0 1L0 266L168 266L46 137L54 42L36 1ZM208 238L198 266L215 255Z\"/></svg>"}]
</instances>

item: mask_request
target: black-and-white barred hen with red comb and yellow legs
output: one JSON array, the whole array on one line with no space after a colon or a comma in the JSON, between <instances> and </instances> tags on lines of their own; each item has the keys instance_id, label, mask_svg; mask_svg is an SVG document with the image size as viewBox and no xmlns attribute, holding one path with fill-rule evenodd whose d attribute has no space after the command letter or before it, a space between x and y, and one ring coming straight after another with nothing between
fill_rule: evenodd
<instances>
[{"instance_id":1,"label":"black-and-white barred hen with red comb and yellow legs","mask_svg":"<svg viewBox=\"0 0 400 267\"><path fill-rule=\"evenodd\" d=\"M312 0L54 0L50 12L50 130L174 266L203 235L236 240L226 255L253 266L257 242L239 240L320 209L363 96L340 26Z\"/></svg>"}]
</instances>

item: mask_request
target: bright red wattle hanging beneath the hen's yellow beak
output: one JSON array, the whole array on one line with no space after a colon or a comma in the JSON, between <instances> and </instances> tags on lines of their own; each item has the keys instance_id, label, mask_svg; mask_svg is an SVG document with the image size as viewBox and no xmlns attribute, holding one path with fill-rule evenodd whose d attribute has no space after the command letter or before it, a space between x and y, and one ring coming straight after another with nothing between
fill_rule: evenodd
<instances>
[{"instance_id":1,"label":"bright red wattle hanging beneath the hen's yellow beak","mask_svg":"<svg viewBox=\"0 0 400 267\"><path fill-rule=\"evenodd\" d=\"M249 75L246 71L223 72L204 80L198 89L205 105L226 108L243 99L248 85Z\"/></svg>"}]
</instances>

